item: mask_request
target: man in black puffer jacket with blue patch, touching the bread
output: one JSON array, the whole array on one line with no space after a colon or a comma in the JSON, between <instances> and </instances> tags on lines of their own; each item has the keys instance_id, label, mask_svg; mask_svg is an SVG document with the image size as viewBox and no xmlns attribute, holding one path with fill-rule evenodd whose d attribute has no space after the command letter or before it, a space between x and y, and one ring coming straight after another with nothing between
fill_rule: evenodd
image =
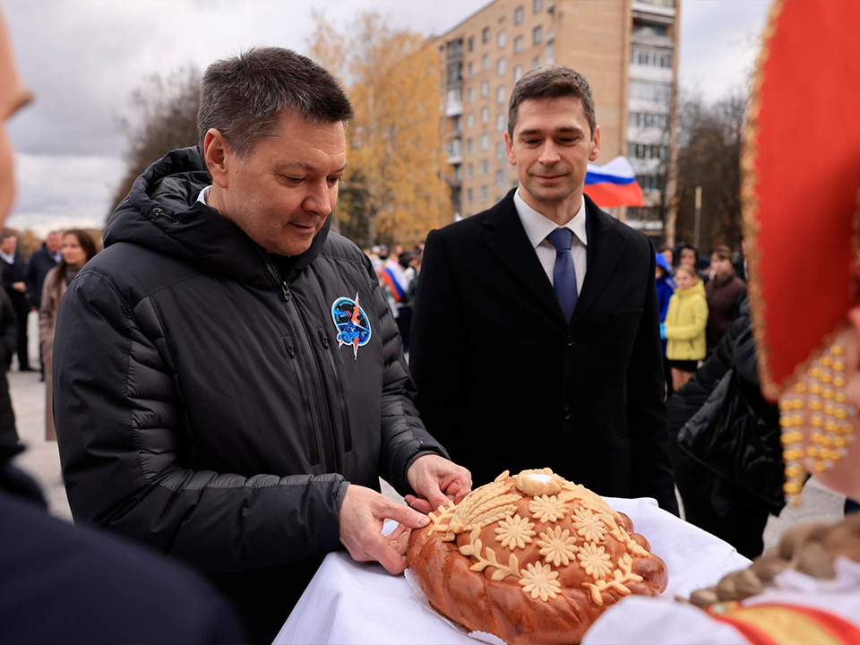
<instances>
[{"instance_id":1,"label":"man in black puffer jacket with blue patch, touching the bread","mask_svg":"<svg viewBox=\"0 0 860 645\"><path fill-rule=\"evenodd\" d=\"M421 512L469 490L413 406L373 266L329 232L340 86L304 56L212 64L203 159L134 183L56 329L54 410L75 520L193 563L271 641L341 544L392 573Z\"/></svg>"}]
</instances>

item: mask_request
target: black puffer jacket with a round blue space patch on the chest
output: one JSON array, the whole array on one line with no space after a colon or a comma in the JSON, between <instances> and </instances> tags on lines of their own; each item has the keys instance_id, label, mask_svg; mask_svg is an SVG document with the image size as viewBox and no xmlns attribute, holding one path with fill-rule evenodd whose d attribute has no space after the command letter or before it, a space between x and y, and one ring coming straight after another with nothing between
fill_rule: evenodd
<instances>
[{"instance_id":1,"label":"black puffer jacket with a round blue space patch on the chest","mask_svg":"<svg viewBox=\"0 0 860 645\"><path fill-rule=\"evenodd\" d=\"M54 411L76 521L223 573L256 607L340 546L347 482L405 494L412 461L447 454L365 255L327 222L281 278L195 201L210 183L193 148L134 183L60 306ZM341 297L370 324L357 354L336 340Z\"/></svg>"}]
</instances>

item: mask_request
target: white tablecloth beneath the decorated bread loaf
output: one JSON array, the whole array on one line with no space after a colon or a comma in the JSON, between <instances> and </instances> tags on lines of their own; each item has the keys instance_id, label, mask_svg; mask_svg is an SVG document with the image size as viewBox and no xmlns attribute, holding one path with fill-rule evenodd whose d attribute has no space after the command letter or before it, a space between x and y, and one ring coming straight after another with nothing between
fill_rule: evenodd
<instances>
[{"instance_id":1,"label":"white tablecloth beneath the decorated bread loaf","mask_svg":"<svg viewBox=\"0 0 860 645\"><path fill-rule=\"evenodd\" d=\"M666 561L666 598L688 595L750 561L733 546L658 508L649 498L606 497L633 520L651 550ZM406 579L379 564L359 564L346 552L331 553L305 589L275 643L435 643L476 645L414 597Z\"/></svg>"}]
</instances>

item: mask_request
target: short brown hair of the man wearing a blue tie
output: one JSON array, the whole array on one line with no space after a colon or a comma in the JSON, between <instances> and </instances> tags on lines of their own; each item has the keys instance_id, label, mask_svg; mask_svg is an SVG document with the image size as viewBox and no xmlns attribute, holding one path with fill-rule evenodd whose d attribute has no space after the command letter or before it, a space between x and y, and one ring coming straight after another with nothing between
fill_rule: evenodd
<instances>
[{"instance_id":1,"label":"short brown hair of the man wearing a blue tie","mask_svg":"<svg viewBox=\"0 0 860 645\"><path fill-rule=\"evenodd\" d=\"M579 72L570 67L556 64L541 65L517 81L511 92L511 102L508 103L508 135L513 140L513 128L517 125L517 113L520 103L524 100L561 99L574 97L582 101L582 109L589 120L591 137L598 127L597 116L594 113L594 96L591 86Z\"/></svg>"}]
</instances>

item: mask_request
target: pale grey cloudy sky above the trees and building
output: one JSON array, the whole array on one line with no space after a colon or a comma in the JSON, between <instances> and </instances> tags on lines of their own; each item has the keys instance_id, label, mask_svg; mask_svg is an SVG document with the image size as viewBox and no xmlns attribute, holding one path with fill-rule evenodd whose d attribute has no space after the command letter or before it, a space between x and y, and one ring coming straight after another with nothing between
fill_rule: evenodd
<instances>
[{"instance_id":1,"label":"pale grey cloudy sky above the trees and building","mask_svg":"<svg viewBox=\"0 0 860 645\"><path fill-rule=\"evenodd\" d=\"M589 0L604 2L609 0ZM18 201L9 219L44 235L100 227L123 175L119 119L152 73L254 45L305 51L311 13L345 24L376 10L396 27L443 33L488 0L4 0L22 76L36 102L9 131L18 150ZM768 0L683 0L682 90L715 99L743 87Z\"/></svg>"}]
</instances>

